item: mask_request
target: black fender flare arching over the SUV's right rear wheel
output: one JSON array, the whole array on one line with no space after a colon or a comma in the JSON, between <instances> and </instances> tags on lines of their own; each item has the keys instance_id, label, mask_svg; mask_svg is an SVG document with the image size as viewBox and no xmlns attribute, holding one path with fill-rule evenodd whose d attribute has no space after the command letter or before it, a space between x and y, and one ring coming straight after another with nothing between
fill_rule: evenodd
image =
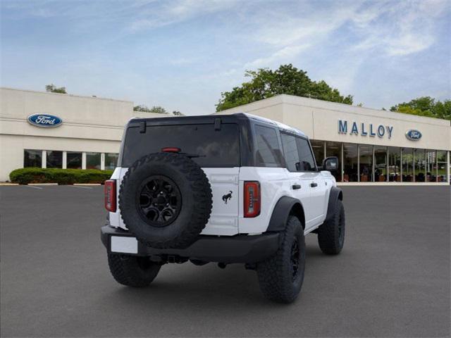
<instances>
[{"instance_id":1,"label":"black fender flare arching over the SUV's right rear wheel","mask_svg":"<svg viewBox=\"0 0 451 338\"><path fill-rule=\"evenodd\" d=\"M285 230L285 225L288 221L288 216L295 215L305 228L304 208L299 199L294 199L290 196L282 196L277 201L273 209L271 219L269 220L268 232L280 232Z\"/></svg>"}]
</instances>

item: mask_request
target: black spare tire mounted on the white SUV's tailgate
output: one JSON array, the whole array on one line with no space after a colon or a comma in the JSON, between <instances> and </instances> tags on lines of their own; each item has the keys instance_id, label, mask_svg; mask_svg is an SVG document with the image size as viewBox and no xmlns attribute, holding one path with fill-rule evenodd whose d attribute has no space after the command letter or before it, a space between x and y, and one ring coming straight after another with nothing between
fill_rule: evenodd
<instances>
[{"instance_id":1,"label":"black spare tire mounted on the white SUV's tailgate","mask_svg":"<svg viewBox=\"0 0 451 338\"><path fill-rule=\"evenodd\" d=\"M211 213L204 171L183 154L143 156L121 183L119 205L128 230L154 248L185 248L196 241Z\"/></svg>"}]
</instances>

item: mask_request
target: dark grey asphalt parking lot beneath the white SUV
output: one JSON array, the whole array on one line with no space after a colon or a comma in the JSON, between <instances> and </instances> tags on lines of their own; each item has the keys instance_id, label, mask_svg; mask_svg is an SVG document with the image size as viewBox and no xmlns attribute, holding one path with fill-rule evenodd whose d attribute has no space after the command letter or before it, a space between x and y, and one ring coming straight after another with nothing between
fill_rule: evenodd
<instances>
[{"instance_id":1,"label":"dark grey asphalt parking lot beneath the white SUV","mask_svg":"<svg viewBox=\"0 0 451 338\"><path fill-rule=\"evenodd\" d=\"M164 265L117 284L103 187L0 187L2 337L448 337L450 187L344 187L347 237L307 236L299 299L266 301L242 265Z\"/></svg>"}]
</instances>

